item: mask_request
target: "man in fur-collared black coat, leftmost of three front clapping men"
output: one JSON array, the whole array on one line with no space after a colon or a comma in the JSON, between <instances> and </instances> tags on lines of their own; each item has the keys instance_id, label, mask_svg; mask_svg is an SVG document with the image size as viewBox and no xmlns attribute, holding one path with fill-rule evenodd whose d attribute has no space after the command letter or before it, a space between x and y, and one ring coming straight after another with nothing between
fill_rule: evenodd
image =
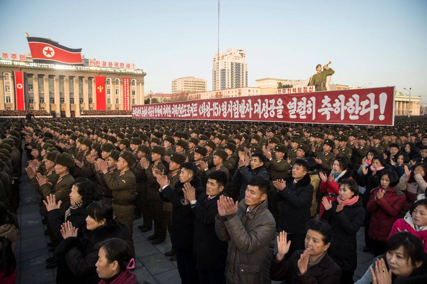
<instances>
[{"instance_id":1,"label":"man in fur-collared black coat, leftmost of three front clapping men","mask_svg":"<svg viewBox=\"0 0 427 284\"><path fill-rule=\"evenodd\" d=\"M160 185L157 193L161 199L172 203L173 206L173 235L171 236L171 241L176 251L176 261L181 281L182 283L199 284L199 274L193 259L194 218L184 217L181 203L181 199L184 199L182 189L186 183L195 188L196 199L202 193L201 180L199 176L196 176L196 173L197 167L194 164L190 162L181 164L179 181L175 183L175 187L172 189L169 186L167 176L159 170L155 170L157 182Z\"/></svg>"}]
</instances>

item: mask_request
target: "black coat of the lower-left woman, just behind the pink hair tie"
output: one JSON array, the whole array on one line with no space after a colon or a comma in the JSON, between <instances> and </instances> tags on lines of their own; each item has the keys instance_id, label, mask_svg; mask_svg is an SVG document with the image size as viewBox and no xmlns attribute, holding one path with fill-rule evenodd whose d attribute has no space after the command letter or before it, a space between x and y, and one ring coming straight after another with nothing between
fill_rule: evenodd
<instances>
[{"instance_id":1,"label":"black coat of the lower-left woman, just behind the pink hair tie","mask_svg":"<svg viewBox=\"0 0 427 284\"><path fill-rule=\"evenodd\" d=\"M55 257L60 259L60 265L68 265L72 274L64 273L58 266L56 283L98 283L99 277L95 264L98 261L98 251L103 240L117 237L125 240L129 231L126 225L118 220L94 229L85 230L83 237L68 237L64 239L55 249Z\"/></svg>"}]
</instances>

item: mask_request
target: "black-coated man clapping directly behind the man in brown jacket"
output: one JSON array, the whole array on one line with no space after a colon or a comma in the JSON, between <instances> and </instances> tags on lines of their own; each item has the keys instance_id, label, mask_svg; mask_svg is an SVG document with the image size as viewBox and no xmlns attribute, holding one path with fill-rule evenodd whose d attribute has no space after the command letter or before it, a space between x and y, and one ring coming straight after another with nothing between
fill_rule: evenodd
<instances>
[{"instance_id":1,"label":"black-coated man clapping directly behind the man in brown jacket","mask_svg":"<svg viewBox=\"0 0 427 284\"><path fill-rule=\"evenodd\" d=\"M249 158L247 155L241 155L236 173L234 173L232 184L240 184L239 202L245 198L246 187L252 176L263 176L270 180L270 173L264 167L266 156L262 153L253 153Z\"/></svg>"}]
</instances>

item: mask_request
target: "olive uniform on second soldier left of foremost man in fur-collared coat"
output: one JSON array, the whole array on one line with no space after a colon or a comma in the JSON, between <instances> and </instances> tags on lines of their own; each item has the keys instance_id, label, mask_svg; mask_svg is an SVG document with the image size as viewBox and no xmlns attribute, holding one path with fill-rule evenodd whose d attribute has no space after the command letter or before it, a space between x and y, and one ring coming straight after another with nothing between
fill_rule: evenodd
<instances>
[{"instance_id":1,"label":"olive uniform on second soldier left of foremost man in fur-collared coat","mask_svg":"<svg viewBox=\"0 0 427 284\"><path fill-rule=\"evenodd\" d=\"M152 168L156 167L158 170L165 170L164 164L159 162L155 164L150 164L148 168L145 169L145 174L147 176L148 182L148 204L151 212L151 217L154 221L154 236L160 240L166 239L166 214L163 211L163 200L158 196L157 190L160 188L160 185L157 182L157 179L153 176Z\"/></svg>"}]
</instances>

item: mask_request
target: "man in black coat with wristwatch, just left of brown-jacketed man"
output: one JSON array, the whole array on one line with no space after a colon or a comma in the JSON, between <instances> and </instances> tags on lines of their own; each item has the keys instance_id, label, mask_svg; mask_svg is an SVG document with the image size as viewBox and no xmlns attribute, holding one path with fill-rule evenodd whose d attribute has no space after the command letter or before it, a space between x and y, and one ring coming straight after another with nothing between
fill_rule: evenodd
<instances>
[{"instance_id":1,"label":"man in black coat with wristwatch, just left of brown-jacketed man","mask_svg":"<svg viewBox=\"0 0 427 284\"><path fill-rule=\"evenodd\" d=\"M194 218L193 255L200 283L225 284L228 242L217 237L215 217L218 214L217 201L227 184L227 175L218 170L211 172L207 179L206 193L200 194L197 200L195 188L184 185L182 212L184 216Z\"/></svg>"}]
</instances>

